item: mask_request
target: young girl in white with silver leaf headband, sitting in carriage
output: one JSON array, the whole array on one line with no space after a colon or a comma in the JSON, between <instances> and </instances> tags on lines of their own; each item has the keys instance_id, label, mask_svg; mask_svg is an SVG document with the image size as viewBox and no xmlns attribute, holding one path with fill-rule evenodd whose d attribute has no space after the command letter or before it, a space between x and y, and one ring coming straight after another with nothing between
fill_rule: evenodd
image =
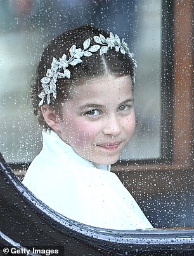
<instances>
[{"instance_id":1,"label":"young girl in white with silver leaf headband, sitting in carriage","mask_svg":"<svg viewBox=\"0 0 194 256\"><path fill-rule=\"evenodd\" d=\"M152 227L110 172L135 128L135 68L123 39L91 26L61 34L42 54L32 101L43 147L23 183L65 217L108 229Z\"/></svg>"}]
</instances>

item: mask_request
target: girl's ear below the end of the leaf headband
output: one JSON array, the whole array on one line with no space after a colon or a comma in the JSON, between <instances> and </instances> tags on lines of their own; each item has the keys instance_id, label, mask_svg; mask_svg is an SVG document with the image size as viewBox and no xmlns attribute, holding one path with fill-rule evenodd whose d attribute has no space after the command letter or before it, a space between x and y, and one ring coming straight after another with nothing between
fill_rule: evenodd
<instances>
[{"instance_id":1,"label":"girl's ear below the end of the leaf headband","mask_svg":"<svg viewBox=\"0 0 194 256\"><path fill-rule=\"evenodd\" d=\"M53 131L58 132L59 123L58 116L56 115L56 113L54 113L51 107L49 107L48 105L42 105L41 111L46 124L48 124L49 127L53 129Z\"/></svg>"}]
</instances>

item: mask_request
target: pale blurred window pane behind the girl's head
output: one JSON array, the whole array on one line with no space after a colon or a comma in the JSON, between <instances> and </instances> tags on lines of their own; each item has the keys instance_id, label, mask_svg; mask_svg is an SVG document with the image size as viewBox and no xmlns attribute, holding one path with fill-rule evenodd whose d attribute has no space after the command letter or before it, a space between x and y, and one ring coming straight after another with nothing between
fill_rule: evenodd
<instances>
[{"instance_id":1,"label":"pale blurred window pane behind the girl's head","mask_svg":"<svg viewBox=\"0 0 194 256\"><path fill-rule=\"evenodd\" d=\"M44 46L61 32L82 24L117 32L138 62L136 131L121 158L161 157L162 1L17 0L2 1L0 11L0 140L8 162L31 162L41 150L30 82Z\"/></svg>"}]
</instances>

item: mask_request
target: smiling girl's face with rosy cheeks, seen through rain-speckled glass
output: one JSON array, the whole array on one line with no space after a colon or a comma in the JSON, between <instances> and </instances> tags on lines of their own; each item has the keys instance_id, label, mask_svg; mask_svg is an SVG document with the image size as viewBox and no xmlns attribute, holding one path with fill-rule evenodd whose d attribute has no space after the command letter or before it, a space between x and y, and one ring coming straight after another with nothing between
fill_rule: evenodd
<instances>
[{"instance_id":1,"label":"smiling girl's face with rosy cheeks, seen through rain-speckled glass","mask_svg":"<svg viewBox=\"0 0 194 256\"><path fill-rule=\"evenodd\" d=\"M63 103L58 135L96 164L113 164L135 128L130 76L103 76L77 85Z\"/></svg>"}]
</instances>

